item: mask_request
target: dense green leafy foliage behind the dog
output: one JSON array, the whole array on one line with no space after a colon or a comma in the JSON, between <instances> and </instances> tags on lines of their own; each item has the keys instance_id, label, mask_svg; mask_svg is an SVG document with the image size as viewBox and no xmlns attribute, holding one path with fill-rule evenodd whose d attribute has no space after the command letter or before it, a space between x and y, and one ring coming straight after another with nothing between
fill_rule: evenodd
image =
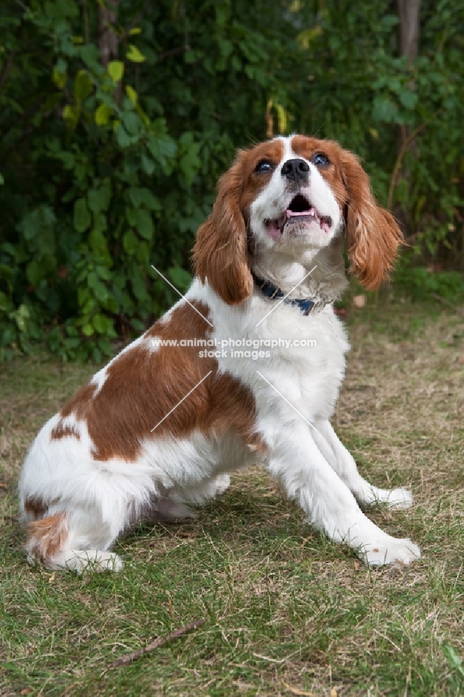
<instances>
[{"instance_id":1,"label":"dense green leafy foliage behind the dog","mask_svg":"<svg viewBox=\"0 0 464 697\"><path fill-rule=\"evenodd\" d=\"M121 0L105 70L98 2L6 0L0 360L141 332L176 300L150 265L187 287L219 174L271 127L355 151L416 253L464 268L464 1L421 13L408 68L387 0Z\"/></svg>"}]
</instances>

